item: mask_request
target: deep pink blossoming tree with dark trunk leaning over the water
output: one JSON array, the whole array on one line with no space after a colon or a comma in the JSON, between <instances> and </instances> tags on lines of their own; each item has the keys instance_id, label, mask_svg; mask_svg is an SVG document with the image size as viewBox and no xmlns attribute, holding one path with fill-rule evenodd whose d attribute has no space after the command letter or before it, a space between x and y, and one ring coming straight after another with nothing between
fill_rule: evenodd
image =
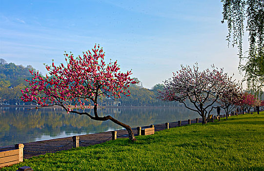
<instances>
[{"instance_id":1,"label":"deep pink blossoming tree with dark trunk leaning over the water","mask_svg":"<svg viewBox=\"0 0 264 171\"><path fill-rule=\"evenodd\" d=\"M116 61L106 64L104 55L102 48L95 45L92 52L83 52L82 57L64 54L65 65L45 64L49 75L41 76L39 72L30 71L32 80L26 80L29 86L21 90L21 100L35 102L41 107L61 106L67 113L87 115L97 121L111 120L128 131L130 140L136 141L130 126L110 115L99 116L97 113L97 102L101 96L112 99L118 99L122 94L129 96L127 88L130 84L136 84L129 77L131 71L120 72ZM85 108L85 103L93 105L94 116L78 110Z\"/></svg>"}]
</instances>

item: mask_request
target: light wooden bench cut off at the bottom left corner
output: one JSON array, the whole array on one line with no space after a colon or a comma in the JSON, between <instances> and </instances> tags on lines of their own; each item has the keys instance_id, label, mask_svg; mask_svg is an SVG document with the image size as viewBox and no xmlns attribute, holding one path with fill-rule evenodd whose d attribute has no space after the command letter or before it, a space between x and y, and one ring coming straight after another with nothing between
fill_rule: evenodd
<instances>
[{"instance_id":1,"label":"light wooden bench cut off at the bottom left corner","mask_svg":"<svg viewBox=\"0 0 264 171\"><path fill-rule=\"evenodd\" d=\"M10 166L23 161L23 144L17 144L16 150L0 152L0 168Z\"/></svg>"}]
</instances>

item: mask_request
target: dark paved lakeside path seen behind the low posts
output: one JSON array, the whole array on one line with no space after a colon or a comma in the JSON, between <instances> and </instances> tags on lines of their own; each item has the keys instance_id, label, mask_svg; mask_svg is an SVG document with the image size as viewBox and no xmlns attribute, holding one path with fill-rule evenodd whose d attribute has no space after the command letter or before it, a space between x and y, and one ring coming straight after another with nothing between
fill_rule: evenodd
<instances>
[{"instance_id":1,"label":"dark paved lakeside path seen behind the low posts","mask_svg":"<svg viewBox=\"0 0 264 171\"><path fill-rule=\"evenodd\" d=\"M202 122L202 118L199 118L199 123ZM191 124L196 123L196 119L191 120ZM181 126L187 125L188 121L182 121ZM141 126L142 128L148 128L149 126ZM165 129L164 124L156 124L154 125L155 131L160 131ZM178 127L177 122L170 122L169 128ZM137 128L132 128L134 135L137 136ZM125 129L117 130L117 138L128 138L128 133ZM111 131L80 135L80 147L91 146L95 144L101 144L106 141L112 140ZM73 148L72 137L51 139L45 141L37 141L31 143L24 143L24 158L30 158L33 156L38 156L45 153L54 153L60 150L69 150ZM14 150L15 146L1 147L0 151L5 150Z\"/></svg>"}]
</instances>

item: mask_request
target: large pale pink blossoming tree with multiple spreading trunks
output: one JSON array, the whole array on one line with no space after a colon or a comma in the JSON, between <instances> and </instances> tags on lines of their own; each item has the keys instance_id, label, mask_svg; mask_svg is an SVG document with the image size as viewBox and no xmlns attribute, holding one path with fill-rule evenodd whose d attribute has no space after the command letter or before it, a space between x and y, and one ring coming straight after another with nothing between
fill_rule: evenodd
<instances>
[{"instance_id":1,"label":"large pale pink blossoming tree with multiple spreading trunks","mask_svg":"<svg viewBox=\"0 0 264 171\"><path fill-rule=\"evenodd\" d=\"M172 78L164 81L165 88L160 91L159 98L183 103L186 108L198 112L203 118L203 124L206 124L213 105L223 95L227 83L227 74L214 65L212 70L202 72L197 63L193 68L181 65L181 69L173 73Z\"/></svg>"}]
</instances>

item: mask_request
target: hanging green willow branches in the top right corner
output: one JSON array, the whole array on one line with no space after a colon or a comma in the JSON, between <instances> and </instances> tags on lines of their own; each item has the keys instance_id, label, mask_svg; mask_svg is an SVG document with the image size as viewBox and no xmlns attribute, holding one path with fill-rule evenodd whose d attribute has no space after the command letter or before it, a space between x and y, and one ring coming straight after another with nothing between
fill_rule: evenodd
<instances>
[{"instance_id":1,"label":"hanging green willow branches in the top right corner","mask_svg":"<svg viewBox=\"0 0 264 171\"><path fill-rule=\"evenodd\" d=\"M227 22L228 45L239 49L239 69L248 89L258 94L264 88L264 0L221 0L223 21ZM243 55L244 21L249 48ZM244 64L242 63L244 62Z\"/></svg>"}]
</instances>

